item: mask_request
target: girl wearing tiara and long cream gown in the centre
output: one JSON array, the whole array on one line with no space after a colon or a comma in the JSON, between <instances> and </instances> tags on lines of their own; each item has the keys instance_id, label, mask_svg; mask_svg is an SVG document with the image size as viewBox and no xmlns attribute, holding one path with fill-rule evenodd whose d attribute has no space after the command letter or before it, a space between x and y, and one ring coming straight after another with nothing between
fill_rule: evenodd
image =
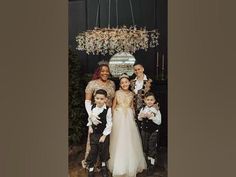
<instances>
[{"instance_id":1,"label":"girl wearing tiara and long cream gown in the centre","mask_svg":"<svg viewBox=\"0 0 236 177\"><path fill-rule=\"evenodd\" d=\"M120 90L113 100L109 170L112 176L135 177L147 168L142 142L134 120L133 93L126 74L120 76Z\"/></svg>"}]
</instances>

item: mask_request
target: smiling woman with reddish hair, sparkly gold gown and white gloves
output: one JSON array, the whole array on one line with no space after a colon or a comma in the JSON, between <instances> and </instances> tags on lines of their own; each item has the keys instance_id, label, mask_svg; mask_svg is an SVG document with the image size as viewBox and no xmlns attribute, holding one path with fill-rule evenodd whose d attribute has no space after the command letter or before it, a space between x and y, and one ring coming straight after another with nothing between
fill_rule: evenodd
<instances>
[{"instance_id":1,"label":"smiling woman with reddish hair, sparkly gold gown and white gloves","mask_svg":"<svg viewBox=\"0 0 236 177\"><path fill-rule=\"evenodd\" d=\"M95 73L93 74L92 80L88 83L86 89L85 89L85 108L90 115L91 112L91 104L93 103L93 96L94 93L98 89L104 89L107 92L107 102L106 105L108 107L112 106L112 101L115 96L115 83L109 79L110 76L110 70L109 66L106 63L99 63L99 67L96 69ZM85 160L87 158L87 155L90 150L89 145L89 133L88 133L88 139L87 139L87 145L86 145L86 153L85 153ZM83 167L86 167L85 160L82 161Z\"/></svg>"}]
</instances>

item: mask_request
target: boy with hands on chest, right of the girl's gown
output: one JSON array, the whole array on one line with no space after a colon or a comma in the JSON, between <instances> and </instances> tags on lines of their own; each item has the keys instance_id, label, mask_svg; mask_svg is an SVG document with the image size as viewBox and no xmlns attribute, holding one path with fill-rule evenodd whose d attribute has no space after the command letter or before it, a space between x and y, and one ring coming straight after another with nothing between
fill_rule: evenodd
<instances>
[{"instance_id":1,"label":"boy with hands on chest, right of the girl's gown","mask_svg":"<svg viewBox=\"0 0 236 177\"><path fill-rule=\"evenodd\" d=\"M152 92L145 94L145 107L141 108L138 120L141 121L141 137L143 151L147 157L147 174L154 173L155 157L157 155L158 128L161 124L161 113L155 108L155 96Z\"/></svg>"}]
</instances>

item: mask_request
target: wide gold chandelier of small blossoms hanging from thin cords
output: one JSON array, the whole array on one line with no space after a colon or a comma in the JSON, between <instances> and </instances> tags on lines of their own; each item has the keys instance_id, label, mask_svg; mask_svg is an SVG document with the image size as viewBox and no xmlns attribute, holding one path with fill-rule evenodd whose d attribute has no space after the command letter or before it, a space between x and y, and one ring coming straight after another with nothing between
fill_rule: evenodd
<instances>
[{"instance_id":1,"label":"wide gold chandelier of small blossoms hanging from thin cords","mask_svg":"<svg viewBox=\"0 0 236 177\"><path fill-rule=\"evenodd\" d=\"M113 55L119 52L135 53L137 50L154 48L158 45L159 33L156 29L148 31L146 28L138 28L134 23L133 9L131 0L129 0L133 26L118 26L118 9L116 0L116 22L117 27L110 27L110 3L109 0L109 22L108 27L95 27L80 33L76 37L78 43L77 49L86 51L93 55ZM97 8L96 26L98 22L98 12L100 9L100 0Z\"/></svg>"}]
</instances>

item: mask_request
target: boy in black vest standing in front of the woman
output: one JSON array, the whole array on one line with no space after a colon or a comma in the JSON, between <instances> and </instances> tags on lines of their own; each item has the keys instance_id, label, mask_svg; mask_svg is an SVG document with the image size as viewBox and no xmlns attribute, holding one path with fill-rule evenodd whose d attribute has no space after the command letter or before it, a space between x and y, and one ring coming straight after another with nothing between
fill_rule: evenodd
<instances>
[{"instance_id":1,"label":"boy in black vest standing in front of the woman","mask_svg":"<svg viewBox=\"0 0 236 177\"><path fill-rule=\"evenodd\" d=\"M108 177L106 162L109 159L109 134L111 133L112 128L111 108L106 106L107 92L105 90L97 90L94 99L95 104L91 106L87 124L89 127L91 146L86 159L88 177L94 177L94 165L98 155L102 164L102 176Z\"/></svg>"}]
</instances>

